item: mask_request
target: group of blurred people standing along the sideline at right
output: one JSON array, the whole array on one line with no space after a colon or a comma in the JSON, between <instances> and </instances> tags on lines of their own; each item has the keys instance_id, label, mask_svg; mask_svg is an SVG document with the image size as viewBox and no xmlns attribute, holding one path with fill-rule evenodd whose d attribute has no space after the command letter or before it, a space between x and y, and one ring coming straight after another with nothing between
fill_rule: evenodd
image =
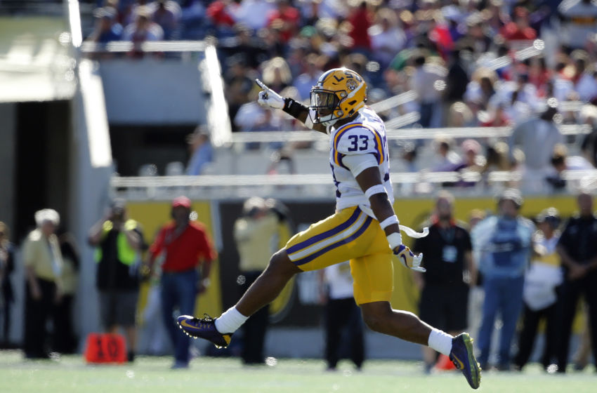
<instances>
[{"instance_id":1,"label":"group of blurred people standing along the sideline at right","mask_svg":"<svg viewBox=\"0 0 597 393\"><path fill-rule=\"evenodd\" d=\"M414 273L421 291L421 319L457 334L475 334L483 370L520 371L537 347L539 324L544 340L539 362L549 373L565 373L572 359L576 370L597 353L597 247L593 198L577 195L578 213L565 223L556 208L544 208L532 220L520 215L518 189L497 197L495 212L474 210L468 223L454 220L454 196L442 191L417 239L427 272ZM570 338L579 298L588 307L575 354ZM586 312L586 313L585 313ZM586 322L586 321L590 322ZM494 331L499 343L492 350ZM591 349L592 348L592 349ZM425 371L453 369L448 359L424 347Z\"/></svg>"}]
</instances>

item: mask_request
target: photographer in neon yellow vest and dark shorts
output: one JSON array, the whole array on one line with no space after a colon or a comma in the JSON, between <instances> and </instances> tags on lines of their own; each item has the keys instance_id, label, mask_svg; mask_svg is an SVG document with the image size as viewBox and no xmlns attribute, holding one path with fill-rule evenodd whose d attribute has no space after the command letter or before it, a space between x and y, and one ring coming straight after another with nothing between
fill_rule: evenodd
<instances>
[{"instance_id":1,"label":"photographer in neon yellow vest and dark shorts","mask_svg":"<svg viewBox=\"0 0 597 393\"><path fill-rule=\"evenodd\" d=\"M143 233L138 222L127 218L124 199L114 199L104 217L89 230L88 242L96 247L96 285L100 315L108 333L126 334L128 359L136 347L135 314L139 293L136 267L140 262Z\"/></svg>"}]
</instances>

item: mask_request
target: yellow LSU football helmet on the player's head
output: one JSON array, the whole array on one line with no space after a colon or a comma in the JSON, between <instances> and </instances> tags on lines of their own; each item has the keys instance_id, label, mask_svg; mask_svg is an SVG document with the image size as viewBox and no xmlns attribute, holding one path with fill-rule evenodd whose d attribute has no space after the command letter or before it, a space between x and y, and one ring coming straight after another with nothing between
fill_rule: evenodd
<instances>
[{"instance_id":1,"label":"yellow LSU football helmet on the player's head","mask_svg":"<svg viewBox=\"0 0 597 393\"><path fill-rule=\"evenodd\" d=\"M339 119L353 116L365 106L367 84L348 68L334 68L324 72L317 85L311 88L311 106L315 111L313 123L333 126Z\"/></svg>"}]
</instances>

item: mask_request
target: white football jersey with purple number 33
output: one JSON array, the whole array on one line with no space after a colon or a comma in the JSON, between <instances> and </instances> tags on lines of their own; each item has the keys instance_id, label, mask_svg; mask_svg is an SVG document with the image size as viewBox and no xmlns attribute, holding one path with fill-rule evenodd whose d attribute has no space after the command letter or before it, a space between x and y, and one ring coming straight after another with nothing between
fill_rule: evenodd
<instances>
[{"instance_id":1,"label":"white football jersey with purple number 33","mask_svg":"<svg viewBox=\"0 0 597 393\"><path fill-rule=\"evenodd\" d=\"M393 204L394 192L390 181L390 160L386 126L383 120L369 107L363 107L354 121L339 127L332 127L329 135L329 164L336 185L336 211L359 206L362 211L376 218L369 199L365 196L353 173L342 163L347 155L373 154L378 162L379 174L386 188L388 199Z\"/></svg>"}]
</instances>

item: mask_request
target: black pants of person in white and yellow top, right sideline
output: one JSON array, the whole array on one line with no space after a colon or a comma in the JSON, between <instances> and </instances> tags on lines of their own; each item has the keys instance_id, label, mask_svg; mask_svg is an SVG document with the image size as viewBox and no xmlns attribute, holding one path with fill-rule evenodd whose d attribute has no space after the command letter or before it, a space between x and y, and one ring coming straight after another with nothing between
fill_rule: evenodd
<instances>
[{"instance_id":1,"label":"black pants of person in white and yellow top, right sideline","mask_svg":"<svg viewBox=\"0 0 597 393\"><path fill-rule=\"evenodd\" d=\"M544 309L532 310L525 304L523 312L523 329L518 335L518 354L514 357L514 364L523 368L532 353L534 340L537 337L539 322L546 320L545 345L541 364L547 368L551 364L551 359L556 355L556 342L558 341L557 321L558 314L556 304Z\"/></svg>"}]
</instances>

